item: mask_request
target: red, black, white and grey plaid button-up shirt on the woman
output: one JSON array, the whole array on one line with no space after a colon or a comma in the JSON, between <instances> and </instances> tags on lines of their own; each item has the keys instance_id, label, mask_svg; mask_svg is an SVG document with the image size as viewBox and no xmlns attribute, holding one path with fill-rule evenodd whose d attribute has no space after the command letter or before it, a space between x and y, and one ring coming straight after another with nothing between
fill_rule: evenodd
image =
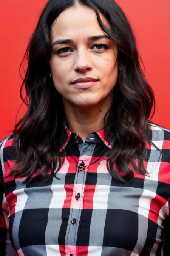
<instances>
[{"instance_id":1,"label":"red, black, white and grey plaid button-up shirt on the woman","mask_svg":"<svg viewBox=\"0 0 170 256\"><path fill-rule=\"evenodd\" d=\"M12 136L1 143L1 256L170 255L170 131L151 125L145 166L124 184L108 172L104 129L85 143L68 130L65 163L46 183L11 171ZM11 167L10 167L11 166ZM123 175L123 173L122 173ZM9 232L8 232L9 231Z\"/></svg>"}]
</instances>

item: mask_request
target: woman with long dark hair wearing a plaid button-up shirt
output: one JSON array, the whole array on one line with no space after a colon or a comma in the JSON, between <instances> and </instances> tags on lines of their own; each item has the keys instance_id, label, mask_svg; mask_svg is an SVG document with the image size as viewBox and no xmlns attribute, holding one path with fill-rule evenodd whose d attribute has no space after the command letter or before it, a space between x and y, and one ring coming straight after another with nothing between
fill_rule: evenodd
<instances>
[{"instance_id":1,"label":"woman with long dark hair wearing a plaid button-up shirt","mask_svg":"<svg viewBox=\"0 0 170 256\"><path fill-rule=\"evenodd\" d=\"M170 255L170 132L112 0L49 0L1 143L1 255ZM22 85L22 87L23 87Z\"/></svg>"}]
</instances>

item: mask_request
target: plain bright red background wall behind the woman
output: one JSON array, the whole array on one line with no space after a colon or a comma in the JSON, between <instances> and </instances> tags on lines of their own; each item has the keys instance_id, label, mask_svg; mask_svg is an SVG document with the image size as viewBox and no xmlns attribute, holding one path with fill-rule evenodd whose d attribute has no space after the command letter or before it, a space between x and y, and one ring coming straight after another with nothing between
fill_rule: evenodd
<instances>
[{"instance_id":1,"label":"plain bright red background wall behind the woman","mask_svg":"<svg viewBox=\"0 0 170 256\"><path fill-rule=\"evenodd\" d=\"M15 124L21 103L19 66L46 0L0 2L0 140ZM170 1L117 0L136 35L145 75L155 92L152 121L170 129ZM18 119L26 108L19 112Z\"/></svg>"}]
</instances>

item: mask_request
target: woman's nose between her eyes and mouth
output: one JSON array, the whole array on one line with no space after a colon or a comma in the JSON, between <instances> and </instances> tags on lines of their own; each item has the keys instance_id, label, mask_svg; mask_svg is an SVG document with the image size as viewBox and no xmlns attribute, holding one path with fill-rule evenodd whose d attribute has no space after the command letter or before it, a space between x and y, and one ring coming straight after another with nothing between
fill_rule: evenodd
<instances>
[{"instance_id":1,"label":"woman's nose between her eyes and mouth","mask_svg":"<svg viewBox=\"0 0 170 256\"><path fill-rule=\"evenodd\" d=\"M74 61L74 70L76 72L85 72L92 69L92 63L90 59L90 53L85 49L77 51Z\"/></svg>"}]
</instances>

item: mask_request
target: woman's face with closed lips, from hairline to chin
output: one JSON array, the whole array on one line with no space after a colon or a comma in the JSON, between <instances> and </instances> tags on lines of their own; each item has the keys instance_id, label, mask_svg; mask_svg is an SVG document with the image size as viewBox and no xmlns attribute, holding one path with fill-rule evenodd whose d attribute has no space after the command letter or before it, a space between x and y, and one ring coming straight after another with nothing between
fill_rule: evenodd
<instances>
[{"instance_id":1,"label":"woman's face with closed lips, from hairline to chin","mask_svg":"<svg viewBox=\"0 0 170 256\"><path fill-rule=\"evenodd\" d=\"M110 29L105 17L100 17ZM91 107L112 101L118 75L117 47L105 36L96 13L86 6L66 9L51 26L51 74L64 104ZM85 78L96 81L74 82Z\"/></svg>"}]
</instances>

